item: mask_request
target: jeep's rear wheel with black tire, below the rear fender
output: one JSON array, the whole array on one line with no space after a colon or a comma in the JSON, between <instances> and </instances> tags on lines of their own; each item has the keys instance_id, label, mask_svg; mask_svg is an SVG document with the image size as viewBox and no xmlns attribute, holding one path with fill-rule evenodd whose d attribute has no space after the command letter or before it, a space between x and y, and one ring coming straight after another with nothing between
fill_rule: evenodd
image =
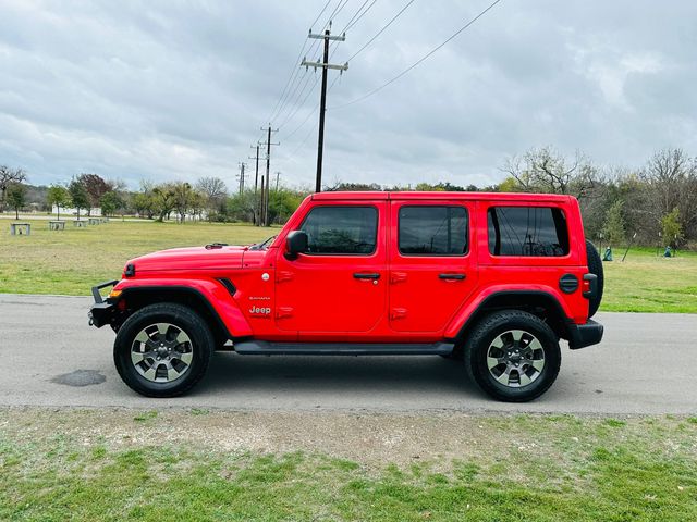
<instances>
[{"instance_id":1,"label":"jeep's rear wheel with black tire, below the rear fender","mask_svg":"<svg viewBox=\"0 0 697 522\"><path fill-rule=\"evenodd\" d=\"M524 334L517 334L517 332ZM509 338L509 335L512 343L503 343L501 339ZM514 335L521 335L521 338L515 340ZM539 343L535 344L530 339L536 339ZM501 343L503 348L494 347L494 341ZM537 348L538 345L539 348ZM535 353L530 359L522 359L517 352L513 355L516 349L519 351L529 350ZM498 359L497 350L504 358L510 351L514 361L517 362L515 369L513 368L515 362L502 362L500 365L489 369L488 356L494 355L497 357L492 357L492 359ZM541 360L539 359L540 350ZM526 402L542 395L557 380L562 361L557 334L541 319L521 310L493 312L484 318L469 332L464 346L464 356L465 369L469 377L491 397L506 402ZM538 366L541 368L538 370ZM518 368L524 371L518 371ZM509 369L510 372L501 371L502 369ZM500 376L503 376L504 381L506 377L503 374L512 377L510 383L503 384L494 377L494 373L500 371ZM516 375L517 384L515 383ZM528 380L531 382L526 383L525 381Z\"/></svg>"}]
</instances>

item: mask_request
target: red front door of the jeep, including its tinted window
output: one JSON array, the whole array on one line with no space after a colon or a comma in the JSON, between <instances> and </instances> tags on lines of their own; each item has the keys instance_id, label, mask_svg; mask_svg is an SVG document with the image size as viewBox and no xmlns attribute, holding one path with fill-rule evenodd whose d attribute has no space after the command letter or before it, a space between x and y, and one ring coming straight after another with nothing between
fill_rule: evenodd
<instances>
[{"instance_id":1,"label":"red front door of the jeep, including its tinted window","mask_svg":"<svg viewBox=\"0 0 697 522\"><path fill-rule=\"evenodd\" d=\"M277 262L276 321L299 339L364 333L387 304L387 201L318 202L299 229L308 251Z\"/></svg>"}]
</instances>

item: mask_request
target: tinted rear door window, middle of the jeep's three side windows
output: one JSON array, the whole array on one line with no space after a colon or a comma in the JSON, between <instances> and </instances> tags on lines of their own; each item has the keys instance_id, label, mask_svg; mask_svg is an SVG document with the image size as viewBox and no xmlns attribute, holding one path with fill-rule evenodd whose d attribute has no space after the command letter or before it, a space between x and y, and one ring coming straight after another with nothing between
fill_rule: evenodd
<instances>
[{"instance_id":1,"label":"tinted rear door window, middle of the jeep's three side windows","mask_svg":"<svg viewBox=\"0 0 697 522\"><path fill-rule=\"evenodd\" d=\"M400 252L462 256L467 252L467 211L462 207L402 207Z\"/></svg>"}]
</instances>

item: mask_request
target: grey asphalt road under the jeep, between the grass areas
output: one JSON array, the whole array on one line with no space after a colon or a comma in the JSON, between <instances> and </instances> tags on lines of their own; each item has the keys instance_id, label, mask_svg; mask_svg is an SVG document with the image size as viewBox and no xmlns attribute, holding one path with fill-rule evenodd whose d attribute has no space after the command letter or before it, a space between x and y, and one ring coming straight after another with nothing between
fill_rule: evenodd
<instances>
[{"instance_id":1,"label":"grey asphalt road under the jeep, between the grass areas","mask_svg":"<svg viewBox=\"0 0 697 522\"><path fill-rule=\"evenodd\" d=\"M461 363L440 357L224 352L186 397L147 399L121 382L114 334L87 325L89 304L82 297L0 295L0 406L697 413L697 315L598 314L602 344L564 348L557 383L525 405L489 399ZM95 384L63 384L81 380Z\"/></svg>"}]
</instances>

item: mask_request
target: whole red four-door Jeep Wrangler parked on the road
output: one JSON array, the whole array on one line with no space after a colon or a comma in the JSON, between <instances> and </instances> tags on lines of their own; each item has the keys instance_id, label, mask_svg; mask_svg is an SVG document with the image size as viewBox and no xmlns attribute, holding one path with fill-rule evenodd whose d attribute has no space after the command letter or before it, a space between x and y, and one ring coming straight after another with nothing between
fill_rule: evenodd
<instances>
[{"instance_id":1,"label":"whole red four-door Jeep Wrangler parked on the road","mask_svg":"<svg viewBox=\"0 0 697 522\"><path fill-rule=\"evenodd\" d=\"M189 390L217 349L243 355L438 355L489 395L557 378L559 339L597 344L602 264L570 196L323 192L257 245L178 248L93 288L123 381ZM113 286L115 285L115 286ZM113 286L106 300L100 288Z\"/></svg>"}]
</instances>

